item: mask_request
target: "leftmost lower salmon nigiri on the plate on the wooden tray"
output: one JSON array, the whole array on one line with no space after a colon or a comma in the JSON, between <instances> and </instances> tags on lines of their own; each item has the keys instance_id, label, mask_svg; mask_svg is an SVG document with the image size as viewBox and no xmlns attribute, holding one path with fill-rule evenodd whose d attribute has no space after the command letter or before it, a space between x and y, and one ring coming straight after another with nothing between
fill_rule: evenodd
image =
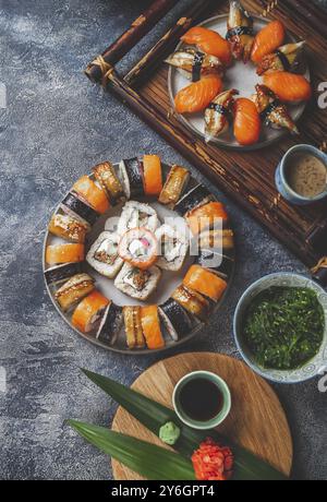
<instances>
[{"instance_id":1,"label":"leftmost lower salmon nigiri on the plate on the wooden tray","mask_svg":"<svg viewBox=\"0 0 327 502\"><path fill-rule=\"evenodd\" d=\"M174 98L174 107L178 113L194 113L204 110L209 103L220 93L221 79L217 75L208 75L187 87L182 88Z\"/></svg>"}]
</instances>

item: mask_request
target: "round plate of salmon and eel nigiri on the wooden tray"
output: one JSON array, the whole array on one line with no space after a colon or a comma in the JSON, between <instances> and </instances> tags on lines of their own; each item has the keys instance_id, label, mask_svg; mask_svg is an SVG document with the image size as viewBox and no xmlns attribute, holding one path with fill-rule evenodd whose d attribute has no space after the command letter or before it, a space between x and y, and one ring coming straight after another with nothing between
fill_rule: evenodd
<instances>
[{"instance_id":1,"label":"round plate of salmon and eel nigiri on the wooden tray","mask_svg":"<svg viewBox=\"0 0 327 502\"><path fill-rule=\"evenodd\" d=\"M230 0L229 14L191 27L166 59L174 113L207 143L238 150L299 134L312 96L304 45Z\"/></svg>"}]
</instances>

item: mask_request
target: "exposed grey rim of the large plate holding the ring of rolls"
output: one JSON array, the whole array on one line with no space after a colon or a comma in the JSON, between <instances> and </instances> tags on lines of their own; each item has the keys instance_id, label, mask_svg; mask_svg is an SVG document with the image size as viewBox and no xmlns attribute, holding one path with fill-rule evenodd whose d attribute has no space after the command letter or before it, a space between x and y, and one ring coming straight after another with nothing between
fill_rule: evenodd
<instances>
[{"instance_id":1,"label":"exposed grey rim of the large plate holding the ring of rolls","mask_svg":"<svg viewBox=\"0 0 327 502\"><path fill-rule=\"evenodd\" d=\"M162 163L164 166L168 166L167 164ZM117 165L117 163L114 164ZM87 175L87 176L92 176L90 175ZM196 181L196 179L194 177L191 177L193 178L193 180ZM203 184L203 183L201 183ZM62 198L62 200L64 200L64 198L70 193L70 190L68 190L68 192L65 192L64 196ZM59 202L56 206L55 206L55 210L51 212L51 215L50 215L50 218L49 220L51 219L51 216L53 214L57 214L57 212L60 210L61 207L61 202ZM230 219L230 228L233 228L233 225L232 225L232 222ZM156 354L161 354L161 352L165 352L165 351L168 351L168 350L171 350L173 348L177 348L177 347L180 347L181 345L184 345L186 344L187 342L191 342L193 338L195 338L195 336L204 331L204 327L208 324L206 323L203 323L203 322L198 322L197 325L194 325L192 332L190 333L190 335L186 335L186 336L183 336L181 337L180 339L178 339L177 342L170 342L168 345L165 345L165 347L161 347L161 348L157 348L157 349L149 349L149 348L144 348L144 349L130 349L130 348L118 348L116 347L114 345L107 345L107 344L104 344L102 342L98 340L97 338L95 338L94 335L87 335L83 332L81 332L80 330L77 330L75 326L73 326L71 320L64 314L64 312L60 309L60 307L58 306L57 301L55 300L55 297L51 292L51 288L49 287L49 284L47 283L47 279L46 279L46 271L47 271L47 265L46 265L46 249L47 249L47 246L48 246L48 239L49 237L51 236L50 231L48 230L48 227L46 229L46 232L45 232L45 238L44 238L44 244L43 244L43 276L44 276L44 280L45 280L45 285L46 285L46 290L48 292L48 296L50 297L50 300L55 307L55 309L57 310L57 312L59 313L59 315L61 316L61 319L64 321L65 324L68 324L70 326L71 330L73 330L75 333L77 333L77 335L80 335L81 337L83 337L85 340L87 342L90 342L93 345L97 346L97 347L100 347L100 348L104 348L105 350L108 350L108 351L112 351L112 352L117 352L117 354L122 354L122 355L128 355L128 356L145 356L145 355L156 355ZM220 301L213 308L213 314L216 314L218 312L218 310L223 306L225 301L226 301L226 298L230 291L230 288L232 286L232 283L234 280L234 275L235 275L235 258L237 258L237 247L234 248L234 260L233 260L233 266L232 266L232 272L230 274L230 277L229 277L229 280L228 280L228 286L220 299ZM83 260L83 262L81 262L81 264L83 264L85 262L85 259ZM48 267L49 268L49 267ZM160 306L158 306L160 307Z\"/></svg>"}]
</instances>

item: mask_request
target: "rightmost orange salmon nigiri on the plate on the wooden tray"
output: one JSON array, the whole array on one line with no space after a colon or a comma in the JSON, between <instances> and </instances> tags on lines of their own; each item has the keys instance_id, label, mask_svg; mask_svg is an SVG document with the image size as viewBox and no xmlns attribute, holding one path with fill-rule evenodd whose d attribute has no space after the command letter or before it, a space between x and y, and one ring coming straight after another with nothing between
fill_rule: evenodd
<instances>
[{"instance_id":1,"label":"rightmost orange salmon nigiri on the plate on the wooden tray","mask_svg":"<svg viewBox=\"0 0 327 502\"><path fill-rule=\"evenodd\" d=\"M264 75L264 84L282 101L307 101L312 88L303 75L288 72L275 72Z\"/></svg>"}]
</instances>

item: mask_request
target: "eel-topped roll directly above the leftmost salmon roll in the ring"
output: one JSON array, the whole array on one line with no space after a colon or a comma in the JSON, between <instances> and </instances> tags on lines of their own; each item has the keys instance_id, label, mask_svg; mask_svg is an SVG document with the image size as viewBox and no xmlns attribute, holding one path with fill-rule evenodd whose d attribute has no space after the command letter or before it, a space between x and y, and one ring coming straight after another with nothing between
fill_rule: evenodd
<instances>
[{"instance_id":1,"label":"eel-topped roll directly above the leftmost salmon roll in the ring","mask_svg":"<svg viewBox=\"0 0 327 502\"><path fill-rule=\"evenodd\" d=\"M89 226L68 214L53 214L49 223L49 231L53 236L72 242L85 242L85 237Z\"/></svg>"}]
</instances>

